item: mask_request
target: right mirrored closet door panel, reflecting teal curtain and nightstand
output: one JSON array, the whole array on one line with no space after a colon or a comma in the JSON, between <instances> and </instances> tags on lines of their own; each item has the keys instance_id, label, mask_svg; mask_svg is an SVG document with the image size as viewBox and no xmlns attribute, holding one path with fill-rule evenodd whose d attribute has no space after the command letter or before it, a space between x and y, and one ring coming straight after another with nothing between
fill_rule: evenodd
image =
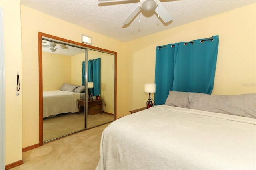
<instances>
[{"instance_id":1,"label":"right mirrored closet door panel, reflecting teal curtain and nightstand","mask_svg":"<svg viewBox=\"0 0 256 170\"><path fill-rule=\"evenodd\" d=\"M88 128L114 119L114 59L112 54L88 50L87 81L93 83L93 88L88 89L92 94L88 97Z\"/></svg>"}]
</instances>

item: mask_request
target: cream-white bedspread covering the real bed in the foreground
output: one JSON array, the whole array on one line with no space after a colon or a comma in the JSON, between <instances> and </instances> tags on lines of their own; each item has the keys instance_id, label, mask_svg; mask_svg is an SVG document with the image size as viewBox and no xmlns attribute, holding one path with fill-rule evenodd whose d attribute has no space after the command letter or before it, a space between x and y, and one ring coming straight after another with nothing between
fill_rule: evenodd
<instances>
[{"instance_id":1,"label":"cream-white bedspread covering the real bed in the foreground","mask_svg":"<svg viewBox=\"0 0 256 170\"><path fill-rule=\"evenodd\" d=\"M158 105L102 132L97 170L256 169L256 119Z\"/></svg>"}]
</instances>

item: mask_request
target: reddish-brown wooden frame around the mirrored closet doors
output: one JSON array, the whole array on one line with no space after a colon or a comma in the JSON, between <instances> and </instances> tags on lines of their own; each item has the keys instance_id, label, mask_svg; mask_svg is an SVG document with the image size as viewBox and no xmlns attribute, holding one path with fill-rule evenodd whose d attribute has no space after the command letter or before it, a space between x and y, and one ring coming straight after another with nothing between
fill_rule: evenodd
<instances>
[{"instance_id":1,"label":"reddish-brown wooden frame around the mirrored closet doors","mask_svg":"<svg viewBox=\"0 0 256 170\"><path fill-rule=\"evenodd\" d=\"M117 80L117 52L114 51L110 51L107 49L102 49L102 48L98 48L98 47L94 47L92 45L87 45L84 43L79 43L79 42L74 42L71 40L67 40L64 38L60 38L57 36L52 36L50 34L45 34L42 32L38 32L38 66L39 66L39 146L43 145L43 64L42 64L42 37L46 37L49 39L54 39L54 40L58 40L61 42L66 42L67 44L71 44L75 47L82 47L84 49L92 49L94 51L99 51L99 52L104 52L104 53L108 53L108 54L112 54L114 55L114 59L115 59L115 63L114 63L114 120L116 120L116 80ZM86 130L86 129L83 129ZM82 131L82 130L81 130ZM79 131L79 132L81 132ZM76 132L75 132L76 133ZM74 134L74 133L72 133ZM71 135L71 134L68 134Z\"/></svg>"}]
</instances>

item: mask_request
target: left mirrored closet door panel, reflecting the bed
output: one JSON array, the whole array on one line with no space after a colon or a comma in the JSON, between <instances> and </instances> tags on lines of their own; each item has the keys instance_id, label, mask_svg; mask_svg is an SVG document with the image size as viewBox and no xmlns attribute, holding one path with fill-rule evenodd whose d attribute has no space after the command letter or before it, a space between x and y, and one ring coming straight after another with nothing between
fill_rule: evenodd
<instances>
[{"instance_id":1,"label":"left mirrored closet door panel, reflecting the bed","mask_svg":"<svg viewBox=\"0 0 256 170\"><path fill-rule=\"evenodd\" d=\"M79 69L84 59L85 49L42 39L43 142L85 128L76 104L85 96Z\"/></svg>"}]
</instances>

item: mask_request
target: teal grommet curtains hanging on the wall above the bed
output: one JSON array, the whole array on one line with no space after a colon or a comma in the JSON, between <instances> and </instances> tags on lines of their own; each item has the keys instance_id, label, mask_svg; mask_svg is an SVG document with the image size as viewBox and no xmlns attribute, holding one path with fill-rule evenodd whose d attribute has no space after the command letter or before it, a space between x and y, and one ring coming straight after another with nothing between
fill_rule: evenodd
<instances>
[{"instance_id":1,"label":"teal grommet curtains hanging on the wall above the bed","mask_svg":"<svg viewBox=\"0 0 256 170\"><path fill-rule=\"evenodd\" d=\"M169 90L211 94L218 43L212 36L156 47L156 105L165 103Z\"/></svg>"}]
</instances>

